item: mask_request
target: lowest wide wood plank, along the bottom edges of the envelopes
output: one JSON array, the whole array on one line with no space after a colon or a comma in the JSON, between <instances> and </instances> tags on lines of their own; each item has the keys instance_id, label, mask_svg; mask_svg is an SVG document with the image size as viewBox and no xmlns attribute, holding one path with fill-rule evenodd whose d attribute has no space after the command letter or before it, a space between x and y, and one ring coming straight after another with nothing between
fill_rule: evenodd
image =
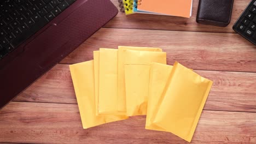
<instances>
[{"instance_id":1,"label":"lowest wide wood plank, along the bottom edges of the envelopes","mask_svg":"<svg viewBox=\"0 0 256 144\"><path fill-rule=\"evenodd\" d=\"M0 142L188 143L144 125L137 116L84 130L77 105L11 102L0 111ZM191 143L256 143L255 129L256 113L203 111Z\"/></svg>"}]
</instances>

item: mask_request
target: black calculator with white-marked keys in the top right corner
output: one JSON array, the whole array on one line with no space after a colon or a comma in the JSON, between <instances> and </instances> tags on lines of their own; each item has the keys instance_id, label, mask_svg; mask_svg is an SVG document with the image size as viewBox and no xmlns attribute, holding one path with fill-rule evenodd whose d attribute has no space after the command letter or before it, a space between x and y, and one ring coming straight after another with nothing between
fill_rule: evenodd
<instances>
[{"instance_id":1,"label":"black calculator with white-marked keys in the top right corner","mask_svg":"<svg viewBox=\"0 0 256 144\"><path fill-rule=\"evenodd\" d=\"M256 45L256 0L251 1L233 26L234 31Z\"/></svg>"}]
</instances>

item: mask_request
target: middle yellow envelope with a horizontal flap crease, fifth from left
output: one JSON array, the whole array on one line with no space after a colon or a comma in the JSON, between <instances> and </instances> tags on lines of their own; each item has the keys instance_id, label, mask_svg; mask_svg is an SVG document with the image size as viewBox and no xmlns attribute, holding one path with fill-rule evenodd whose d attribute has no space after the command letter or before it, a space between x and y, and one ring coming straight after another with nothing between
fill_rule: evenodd
<instances>
[{"instance_id":1,"label":"middle yellow envelope with a horizontal flap crease, fifth from left","mask_svg":"<svg viewBox=\"0 0 256 144\"><path fill-rule=\"evenodd\" d=\"M126 115L147 114L150 64L166 64L166 52L125 50Z\"/></svg>"}]
</instances>

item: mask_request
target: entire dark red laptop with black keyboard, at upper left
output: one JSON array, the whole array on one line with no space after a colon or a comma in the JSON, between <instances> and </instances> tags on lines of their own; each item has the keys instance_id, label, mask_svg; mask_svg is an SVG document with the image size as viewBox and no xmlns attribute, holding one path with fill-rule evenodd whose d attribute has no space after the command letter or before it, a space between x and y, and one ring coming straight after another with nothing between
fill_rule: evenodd
<instances>
[{"instance_id":1,"label":"entire dark red laptop with black keyboard, at upper left","mask_svg":"<svg viewBox=\"0 0 256 144\"><path fill-rule=\"evenodd\" d=\"M0 109L117 13L109 0L1 0Z\"/></svg>"}]
</instances>

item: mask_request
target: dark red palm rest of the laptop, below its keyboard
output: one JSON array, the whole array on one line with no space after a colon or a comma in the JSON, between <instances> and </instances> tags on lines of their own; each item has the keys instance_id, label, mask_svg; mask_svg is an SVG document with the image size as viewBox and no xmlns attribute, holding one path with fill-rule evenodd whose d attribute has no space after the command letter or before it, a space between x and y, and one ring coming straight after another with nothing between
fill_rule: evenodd
<instances>
[{"instance_id":1,"label":"dark red palm rest of the laptop, below its keyboard","mask_svg":"<svg viewBox=\"0 0 256 144\"><path fill-rule=\"evenodd\" d=\"M109 0L77 0L2 59L0 109L117 13L118 9Z\"/></svg>"}]
</instances>

